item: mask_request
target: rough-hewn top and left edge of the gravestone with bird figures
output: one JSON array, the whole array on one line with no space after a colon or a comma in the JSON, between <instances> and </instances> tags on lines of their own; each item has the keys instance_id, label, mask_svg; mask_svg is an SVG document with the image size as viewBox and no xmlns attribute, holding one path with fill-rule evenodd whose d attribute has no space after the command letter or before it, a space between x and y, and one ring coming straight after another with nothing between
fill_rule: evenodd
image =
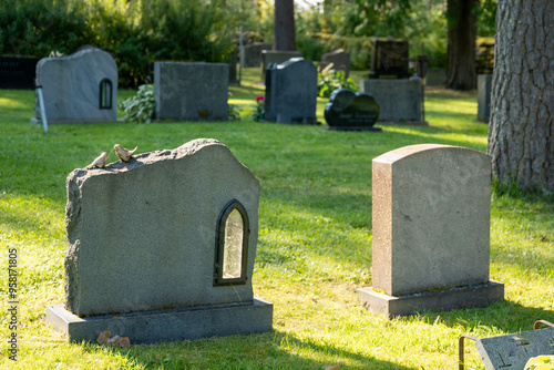
<instances>
[{"instance_id":1,"label":"rough-hewn top and left edge of the gravestone with bird figures","mask_svg":"<svg viewBox=\"0 0 554 370\"><path fill-rule=\"evenodd\" d=\"M165 162L171 160L182 160L187 156L192 156L208 146L220 146L226 148L233 158L245 169L248 169L243 163L240 163L230 150L215 138L196 138L192 140L175 150L157 150L154 152L141 153L133 156L129 162L113 162L107 164L104 168L75 168L73 169L66 178L65 189L68 194L68 203L65 205L65 229L68 234L68 251L63 261L64 265L64 291L65 291L65 307L68 307L69 301L75 301L73 297L79 295L76 287L81 284L80 281L74 281L76 284L69 284L69 276L75 278L79 276L75 274L79 270L79 248L81 235L81 189L83 184L92 176L101 175L115 175L117 173L124 173L133 171L145 165L152 165L158 162ZM250 172L252 174L252 172ZM252 174L254 178L254 174ZM256 178L257 179L257 178ZM72 256L72 257L70 257ZM73 287L73 289L70 289Z\"/></svg>"}]
</instances>

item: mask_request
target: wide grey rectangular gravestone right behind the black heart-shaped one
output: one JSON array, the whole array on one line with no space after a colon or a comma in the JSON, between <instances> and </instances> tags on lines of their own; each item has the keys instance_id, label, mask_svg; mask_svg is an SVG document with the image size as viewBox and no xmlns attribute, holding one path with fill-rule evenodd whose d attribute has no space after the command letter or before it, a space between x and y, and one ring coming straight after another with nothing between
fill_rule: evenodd
<instances>
[{"instance_id":1,"label":"wide grey rectangular gravestone right behind the black heart-shaped one","mask_svg":"<svg viewBox=\"0 0 554 370\"><path fill-rule=\"evenodd\" d=\"M376 99L379 121L427 125L421 121L421 80L362 80L360 91Z\"/></svg>"}]
</instances>

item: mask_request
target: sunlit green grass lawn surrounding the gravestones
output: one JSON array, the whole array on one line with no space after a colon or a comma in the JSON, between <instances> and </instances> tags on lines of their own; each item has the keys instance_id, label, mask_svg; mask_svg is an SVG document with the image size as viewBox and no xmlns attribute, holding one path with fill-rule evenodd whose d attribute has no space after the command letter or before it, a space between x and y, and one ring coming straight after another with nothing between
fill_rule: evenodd
<instances>
[{"instance_id":1,"label":"sunlit green grass lawn surrounding the gravestones","mask_svg":"<svg viewBox=\"0 0 554 370\"><path fill-rule=\"evenodd\" d=\"M264 94L258 69L230 86L244 110ZM359 79L363 74L355 73ZM120 91L119 101L134 92ZM322 117L326 100L318 100ZM554 321L554 203L493 194L491 278L505 301L387 320L357 302L371 285L371 160L421 143L486 151L475 92L427 91L429 127L381 133L253 121L32 126L33 91L0 91L0 368L2 369L455 369L461 335L490 337ZM123 114L120 114L123 116ZM213 137L260 181L254 291L273 302L263 335L106 348L68 343L44 322L64 301L65 177L119 143L137 153ZM114 162L111 154L109 162ZM452 225L455 227L455 225ZM18 361L9 360L9 249L18 251ZM163 266L161 266L163 268ZM131 342L133 338L131 338ZM468 363L480 366L473 346Z\"/></svg>"}]
</instances>

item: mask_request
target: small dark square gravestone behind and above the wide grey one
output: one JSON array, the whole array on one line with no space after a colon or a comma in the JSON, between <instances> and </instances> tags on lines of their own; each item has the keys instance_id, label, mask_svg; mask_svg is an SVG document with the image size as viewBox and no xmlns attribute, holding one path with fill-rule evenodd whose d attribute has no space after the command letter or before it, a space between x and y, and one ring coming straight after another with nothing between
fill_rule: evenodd
<instances>
[{"instance_id":1,"label":"small dark square gravestone behind and above the wide grey one","mask_svg":"<svg viewBox=\"0 0 554 370\"><path fill-rule=\"evenodd\" d=\"M410 50L408 42L396 40L371 41L370 79L408 79Z\"/></svg>"}]
</instances>

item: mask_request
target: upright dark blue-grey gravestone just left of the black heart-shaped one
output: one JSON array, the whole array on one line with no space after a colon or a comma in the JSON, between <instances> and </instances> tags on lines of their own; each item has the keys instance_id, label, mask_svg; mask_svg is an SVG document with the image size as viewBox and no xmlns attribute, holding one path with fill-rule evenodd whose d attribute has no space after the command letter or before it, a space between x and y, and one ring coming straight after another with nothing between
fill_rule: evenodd
<instances>
[{"instance_id":1,"label":"upright dark blue-grey gravestone just left of the black heart-shaped one","mask_svg":"<svg viewBox=\"0 0 554 370\"><path fill-rule=\"evenodd\" d=\"M307 59L293 58L273 64L266 74L266 121L277 123L315 123L317 69Z\"/></svg>"}]
</instances>

